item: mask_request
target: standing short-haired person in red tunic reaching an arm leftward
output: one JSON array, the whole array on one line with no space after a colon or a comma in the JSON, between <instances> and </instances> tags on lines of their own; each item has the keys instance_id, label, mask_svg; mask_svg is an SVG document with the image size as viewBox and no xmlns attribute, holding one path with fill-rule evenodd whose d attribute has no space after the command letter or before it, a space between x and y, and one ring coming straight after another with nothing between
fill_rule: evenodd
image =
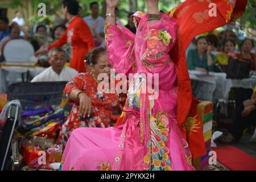
<instances>
[{"instance_id":1,"label":"standing short-haired person in red tunic reaching an arm leftward","mask_svg":"<svg viewBox=\"0 0 256 182\"><path fill-rule=\"evenodd\" d=\"M80 73L85 72L84 57L95 46L92 33L84 20L78 16L79 4L77 1L64 0L62 11L65 18L69 20L67 30L57 42L51 44L46 49L36 51L35 56L43 55L53 47L61 47L65 43L69 43L72 46L70 67Z\"/></svg>"}]
</instances>

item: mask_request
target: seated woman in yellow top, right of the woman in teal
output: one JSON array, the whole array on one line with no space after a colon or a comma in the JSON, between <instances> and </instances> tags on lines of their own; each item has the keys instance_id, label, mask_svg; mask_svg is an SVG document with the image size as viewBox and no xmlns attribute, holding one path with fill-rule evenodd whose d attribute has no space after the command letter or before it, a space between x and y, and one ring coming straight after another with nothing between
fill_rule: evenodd
<instances>
[{"instance_id":1,"label":"seated woman in yellow top, right of the woman in teal","mask_svg":"<svg viewBox=\"0 0 256 182\"><path fill-rule=\"evenodd\" d=\"M233 40L226 40L223 45L223 51L221 54L216 55L214 63L218 65L228 65L228 54L234 54L236 43Z\"/></svg>"}]
</instances>

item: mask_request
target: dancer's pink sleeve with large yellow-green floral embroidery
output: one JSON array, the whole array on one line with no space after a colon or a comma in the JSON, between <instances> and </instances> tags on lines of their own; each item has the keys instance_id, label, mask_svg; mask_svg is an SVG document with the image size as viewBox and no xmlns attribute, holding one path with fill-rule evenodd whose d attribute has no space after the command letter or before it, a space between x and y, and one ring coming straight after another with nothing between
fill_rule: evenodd
<instances>
[{"instance_id":1,"label":"dancer's pink sleeve with large yellow-green floral embroidery","mask_svg":"<svg viewBox=\"0 0 256 182\"><path fill-rule=\"evenodd\" d=\"M155 22L144 22L141 60L149 67L159 67L171 59L170 50L176 42L177 20L161 14Z\"/></svg>"}]
</instances>

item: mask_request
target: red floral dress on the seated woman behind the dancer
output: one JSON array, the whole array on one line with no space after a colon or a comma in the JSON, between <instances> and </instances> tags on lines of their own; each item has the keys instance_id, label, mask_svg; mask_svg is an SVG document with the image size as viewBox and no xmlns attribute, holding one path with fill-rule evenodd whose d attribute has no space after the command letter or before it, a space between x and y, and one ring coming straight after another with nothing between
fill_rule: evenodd
<instances>
[{"instance_id":1,"label":"red floral dress on the seated woman behind the dancer","mask_svg":"<svg viewBox=\"0 0 256 182\"><path fill-rule=\"evenodd\" d=\"M71 132L79 127L109 127L114 126L114 111L119 111L119 97L116 93L98 92L98 82L89 73L79 73L65 86L68 97L74 89L84 90L92 102L92 112L89 118L79 116L79 102L73 104L68 120L60 131L61 142L68 141ZM69 101L72 103L72 101Z\"/></svg>"}]
</instances>

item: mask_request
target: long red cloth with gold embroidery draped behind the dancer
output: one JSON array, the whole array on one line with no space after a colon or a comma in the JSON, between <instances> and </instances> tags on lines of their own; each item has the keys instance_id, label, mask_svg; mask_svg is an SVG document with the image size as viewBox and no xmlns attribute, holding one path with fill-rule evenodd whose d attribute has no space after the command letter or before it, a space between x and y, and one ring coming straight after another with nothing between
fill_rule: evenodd
<instances>
[{"instance_id":1,"label":"long red cloth with gold embroidery draped behind the dancer","mask_svg":"<svg viewBox=\"0 0 256 182\"><path fill-rule=\"evenodd\" d=\"M197 105L192 96L185 50L196 35L214 30L239 18L244 13L247 4L247 0L212 0L212 2L217 5L217 16L209 16L208 1L195 0L187 0L167 13L179 22L177 41L170 53L178 70L177 125L188 141L192 158L203 156L206 151L202 128L188 135L184 127L187 117L196 117L194 125L200 123Z\"/></svg>"}]
</instances>

